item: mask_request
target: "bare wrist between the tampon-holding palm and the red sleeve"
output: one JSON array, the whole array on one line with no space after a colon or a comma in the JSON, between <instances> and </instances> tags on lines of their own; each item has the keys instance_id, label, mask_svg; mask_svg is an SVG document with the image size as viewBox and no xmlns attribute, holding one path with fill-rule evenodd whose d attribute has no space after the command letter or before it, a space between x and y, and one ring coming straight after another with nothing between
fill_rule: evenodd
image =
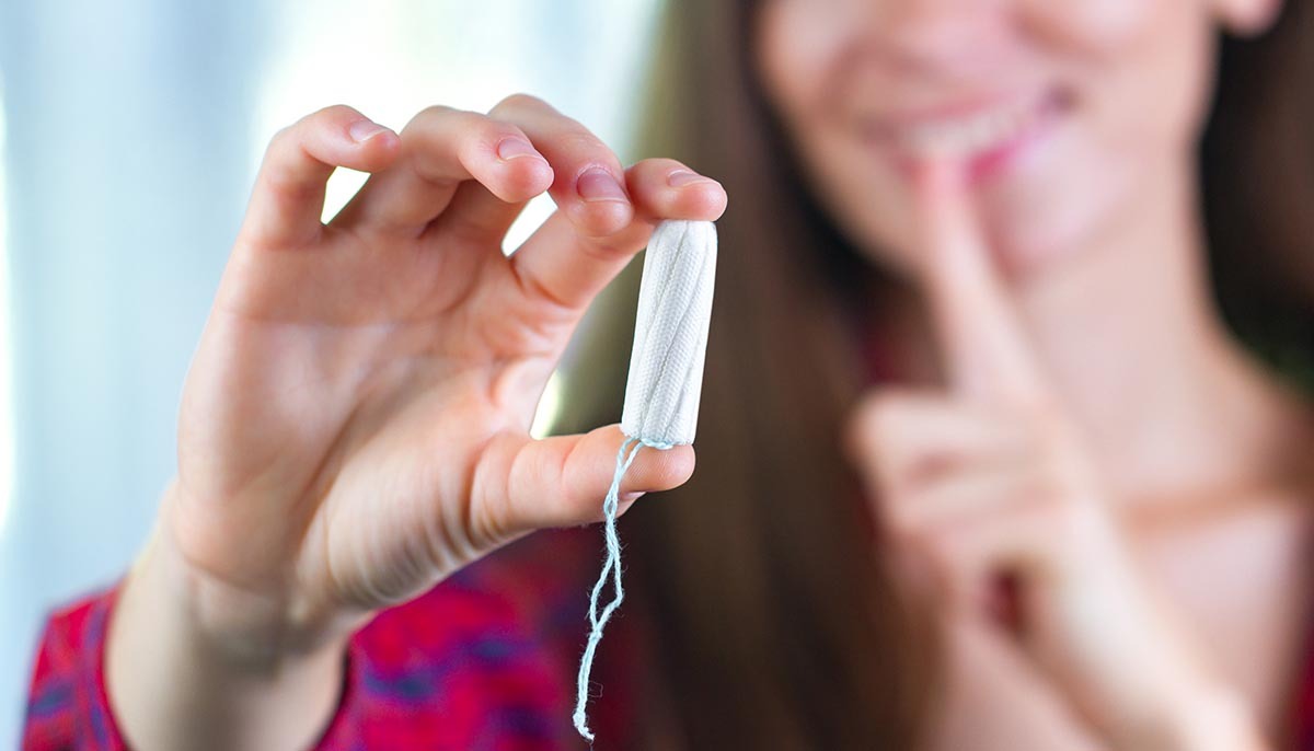
<instances>
[{"instance_id":1,"label":"bare wrist between the tampon-holding palm and the red sleeve","mask_svg":"<svg viewBox=\"0 0 1314 751\"><path fill-rule=\"evenodd\" d=\"M215 639L194 582L152 541L109 624L105 681L135 751L310 748L339 701L340 645L288 653Z\"/></svg>"}]
</instances>

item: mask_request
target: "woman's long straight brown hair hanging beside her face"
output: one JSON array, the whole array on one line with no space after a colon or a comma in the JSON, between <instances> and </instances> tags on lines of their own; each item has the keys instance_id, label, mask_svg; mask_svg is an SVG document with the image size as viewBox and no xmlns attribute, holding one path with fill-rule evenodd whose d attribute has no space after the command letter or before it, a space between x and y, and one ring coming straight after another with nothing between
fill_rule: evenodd
<instances>
[{"instance_id":1,"label":"woman's long straight brown hair hanging beside her face","mask_svg":"<svg viewBox=\"0 0 1314 751\"><path fill-rule=\"evenodd\" d=\"M682 159L731 196L698 471L622 523L632 614L652 624L660 668L641 700L644 747L913 748L938 675L934 629L897 596L840 446L871 381L862 316L892 282L790 156L754 77L756 5L669 3L640 125L637 156ZM1311 341L1309 290L1269 276L1314 239L1311 26L1293 3L1264 39L1225 43L1202 148L1222 307L1285 360ZM595 305L568 360L561 431L619 416L636 272Z\"/></svg>"}]
</instances>

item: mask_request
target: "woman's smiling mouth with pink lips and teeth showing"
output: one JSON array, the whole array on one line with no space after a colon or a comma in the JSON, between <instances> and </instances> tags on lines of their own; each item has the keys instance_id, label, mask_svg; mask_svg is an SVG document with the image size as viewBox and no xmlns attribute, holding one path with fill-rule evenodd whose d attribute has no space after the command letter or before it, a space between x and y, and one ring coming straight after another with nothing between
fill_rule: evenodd
<instances>
[{"instance_id":1,"label":"woman's smiling mouth with pink lips and teeth showing","mask_svg":"<svg viewBox=\"0 0 1314 751\"><path fill-rule=\"evenodd\" d=\"M950 104L915 114L866 121L869 137L903 163L955 159L974 173L989 172L1042 135L1068 106L1051 91L995 97L983 104Z\"/></svg>"}]
</instances>

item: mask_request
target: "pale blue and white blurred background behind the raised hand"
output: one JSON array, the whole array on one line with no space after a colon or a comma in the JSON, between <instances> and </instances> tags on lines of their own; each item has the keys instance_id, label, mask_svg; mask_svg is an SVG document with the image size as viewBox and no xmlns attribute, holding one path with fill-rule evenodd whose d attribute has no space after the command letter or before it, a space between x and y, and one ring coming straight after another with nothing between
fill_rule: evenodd
<instances>
[{"instance_id":1,"label":"pale blue and white blurred background behind the raised hand","mask_svg":"<svg viewBox=\"0 0 1314 751\"><path fill-rule=\"evenodd\" d=\"M623 150L656 3L0 0L0 748L45 613L147 533L269 135L527 91Z\"/></svg>"}]
</instances>

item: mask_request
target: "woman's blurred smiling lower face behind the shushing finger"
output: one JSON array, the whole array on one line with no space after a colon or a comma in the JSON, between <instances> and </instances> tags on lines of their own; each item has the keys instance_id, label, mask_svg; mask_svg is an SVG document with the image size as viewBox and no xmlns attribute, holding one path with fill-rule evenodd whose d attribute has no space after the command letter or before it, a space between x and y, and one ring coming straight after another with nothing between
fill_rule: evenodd
<instances>
[{"instance_id":1,"label":"woman's blurred smiling lower face behind the shushing finger","mask_svg":"<svg viewBox=\"0 0 1314 751\"><path fill-rule=\"evenodd\" d=\"M1277 0L763 0L762 85L812 188L911 270L909 167L949 154L1010 270L1134 222L1189 179L1218 22Z\"/></svg>"}]
</instances>

